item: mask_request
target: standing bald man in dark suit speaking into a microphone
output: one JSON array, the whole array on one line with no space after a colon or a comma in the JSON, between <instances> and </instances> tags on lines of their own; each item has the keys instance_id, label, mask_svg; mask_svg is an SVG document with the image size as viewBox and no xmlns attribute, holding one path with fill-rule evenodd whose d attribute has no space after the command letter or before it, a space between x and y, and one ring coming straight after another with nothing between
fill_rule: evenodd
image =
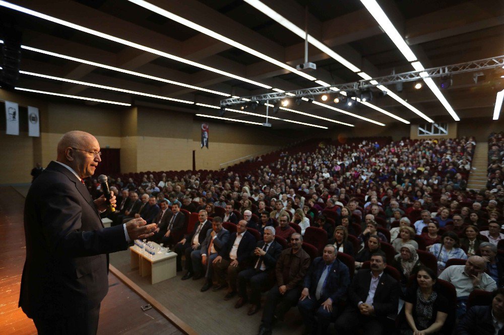
<instances>
[{"instance_id":1,"label":"standing bald man in dark suit speaking into a microphone","mask_svg":"<svg viewBox=\"0 0 504 335\"><path fill-rule=\"evenodd\" d=\"M83 182L93 176L100 154L93 135L66 133L56 161L28 191L19 306L39 334L96 334L100 303L108 292L108 254L156 229L142 218L103 228L99 213L109 203L104 196L93 201Z\"/></svg>"}]
</instances>

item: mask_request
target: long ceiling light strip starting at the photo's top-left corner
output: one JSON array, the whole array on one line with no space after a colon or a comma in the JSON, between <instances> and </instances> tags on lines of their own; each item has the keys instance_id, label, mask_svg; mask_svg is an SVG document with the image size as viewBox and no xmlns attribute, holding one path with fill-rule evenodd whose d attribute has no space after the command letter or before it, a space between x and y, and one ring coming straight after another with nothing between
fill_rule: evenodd
<instances>
[{"instance_id":1,"label":"long ceiling light strip starting at the photo's top-left corner","mask_svg":"<svg viewBox=\"0 0 504 335\"><path fill-rule=\"evenodd\" d=\"M28 14L28 15L32 15L32 16L35 16L35 17L40 18L40 19L48 20L48 21L60 24L62 26L73 28L73 29L76 29L76 30L79 30L79 31L82 31L82 32L85 32L85 33L88 33L88 34L92 34L92 35L95 35L95 36L98 36L98 37L102 37L102 38L105 38L105 39L107 39L109 41L117 42L117 43L120 43L120 44L123 44L123 45L130 46L132 48L140 49L140 50L143 50L143 51L146 51L146 52L150 52L150 53L162 56L162 57L173 59L173 60L182 62L184 64L193 65L193 66L202 68L204 70L212 71L212 72L219 73L219 74L222 74L222 75L225 75L225 76L228 76L228 77L231 77L231 78L235 78L235 79L238 79L238 80L241 80L241 81L249 82L249 83L252 83L254 85L263 87L265 89L271 89L272 88L271 86L265 85L265 84L263 84L261 82L258 82L258 81L250 80L250 79L241 77L239 75L232 74L232 73L229 73L229 72L226 72L226 71L222 71L222 70L216 69L214 67L203 65L203 64L200 64L200 63L197 63L197 62L194 62L192 60L188 60L188 59L185 59L185 58L182 58L182 57L171 55L171 54L169 54L167 52L156 50L156 49L147 47L145 45L141 45L141 44L138 44L138 43L135 43L135 42L127 41L127 40L124 40L124 39L119 38L119 37L115 37L115 36L108 35L108 34L105 34L105 33L102 33L102 32L96 31L96 30L93 30L93 29L89 29L89 28L86 28L86 27L83 27L83 26L79 26L79 25L76 25L74 23L71 23L71 22L68 22L68 21L65 21L65 20L61 20L61 19L57 19L57 18L54 18L52 16L45 15L45 14L42 14L42 13L39 13L39 12L35 12L35 11L30 10L30 9L27 9L27 8L24 8L24 7L21 7L21 6L18 6L18 5L14 5L14 4L8 3L8 2L3 1L3 0L0 0L0 6L6 7L6 8L10 8L12 10L15 10L15 11L18 11L18 12L21 12L21 13L25 13L25 14Z\"/></svg>"}]
</instances>

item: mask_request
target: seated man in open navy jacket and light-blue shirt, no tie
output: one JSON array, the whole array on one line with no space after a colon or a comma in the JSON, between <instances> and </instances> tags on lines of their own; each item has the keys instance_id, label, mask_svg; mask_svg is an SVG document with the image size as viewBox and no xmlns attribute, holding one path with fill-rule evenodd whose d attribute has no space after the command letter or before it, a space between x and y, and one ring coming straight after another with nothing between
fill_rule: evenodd
<instances>
[{"instance_id":1,"label":"seated man in open navy jacket and light-blue shirt, no tie","mask_svg":"<svg viewBox=\"0 0 504 335\"><path fill-rule=\"evenodd\" d=\"M323 256L313 260L304 277L304 288L297 308L306 333L325 335L329 323L337 315L340 299L346 296L350 273L348 267L337 259L337 255L333 244L326 245Z\"/></svg>"}]
</instances>

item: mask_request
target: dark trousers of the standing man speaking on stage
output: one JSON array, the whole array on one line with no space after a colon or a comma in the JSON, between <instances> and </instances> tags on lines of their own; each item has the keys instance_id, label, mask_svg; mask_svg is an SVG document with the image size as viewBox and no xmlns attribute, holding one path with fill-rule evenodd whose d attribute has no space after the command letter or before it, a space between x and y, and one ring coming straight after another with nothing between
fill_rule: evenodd
<instances>
[{"instance_id":1,"label":"dark trousers of the standing man speaking on stage","mask_svg":"<svg viewBox=\"0 0 504 335\"><path fill-rule=\"evenodd\" d=\"M76 312L71 316L34 317L33 323L39 335L95 335L98 331L99 316L100 305L87 311Z\"/></svg>"}]
</instances>

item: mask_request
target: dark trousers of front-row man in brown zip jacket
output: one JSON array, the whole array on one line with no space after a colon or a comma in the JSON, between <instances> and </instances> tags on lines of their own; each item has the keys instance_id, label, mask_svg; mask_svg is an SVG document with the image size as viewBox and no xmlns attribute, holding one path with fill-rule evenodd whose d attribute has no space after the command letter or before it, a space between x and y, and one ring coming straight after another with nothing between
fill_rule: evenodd
<instances>
[{"instance_id":1,"label":"dark trousers of front-row man in brown zip jacket","mask_svg":"<svg viewBox=\"0 0 504 335\"><path fill-rule=\"evenodd\" d=\"M266 303L264 304L263 318L261 321L263 322L263 327L267 329L271 329L271 322L273 321L274 315L279 319L283 319L285 313L287 313L301 296L301 288L299 287L287 290L285 294L280 294L278 287L278 285L275 285L268 292Z\"/></svg>"}]
</instances>

